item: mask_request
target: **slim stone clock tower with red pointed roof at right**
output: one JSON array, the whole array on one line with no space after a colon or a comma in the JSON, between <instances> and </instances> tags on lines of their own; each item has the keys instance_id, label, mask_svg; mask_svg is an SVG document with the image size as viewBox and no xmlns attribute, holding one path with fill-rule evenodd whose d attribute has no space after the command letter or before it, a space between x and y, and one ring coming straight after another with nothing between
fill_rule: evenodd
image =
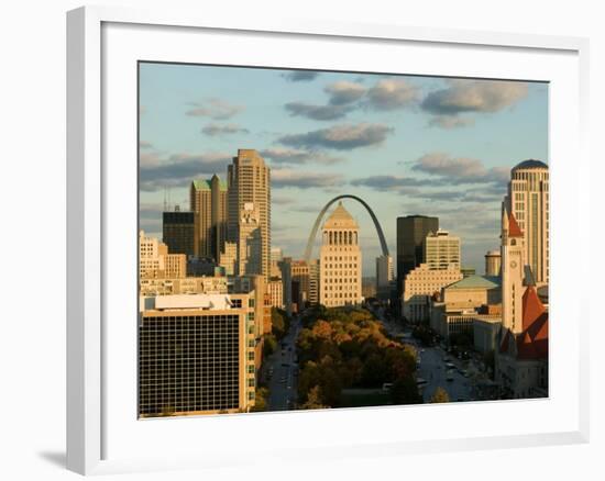
<instances>
[{"instance_id":1,"label":"slim stone clock tower with red pointed roof at right","mask_svg":"<svg viewBox=\"0 0 605 481\"><path fill-rule=\"evenodd\" d=\"M506 208L502 216L502 325L513 334L522 331L524 233ZM506 331L505 331L506 332Z\"/></svg>"}]
</instances>

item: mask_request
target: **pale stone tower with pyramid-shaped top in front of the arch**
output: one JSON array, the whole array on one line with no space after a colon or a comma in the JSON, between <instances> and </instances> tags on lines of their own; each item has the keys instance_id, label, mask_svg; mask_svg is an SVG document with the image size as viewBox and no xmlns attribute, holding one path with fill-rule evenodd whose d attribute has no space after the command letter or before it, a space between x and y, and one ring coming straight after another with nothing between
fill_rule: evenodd
<instances>
[{"instance_id":1,"label":"pale stone tower with pyramid-shaped top in front of the arch","mask_svg":"<svg viewBox=\"0 0 605 481\"><path fill-rule=\"evenodd\" d=\"M322 227L319 259L319 302L327 307L362 301L359 225L342 202Z\"/></svg>"}]
</instances>

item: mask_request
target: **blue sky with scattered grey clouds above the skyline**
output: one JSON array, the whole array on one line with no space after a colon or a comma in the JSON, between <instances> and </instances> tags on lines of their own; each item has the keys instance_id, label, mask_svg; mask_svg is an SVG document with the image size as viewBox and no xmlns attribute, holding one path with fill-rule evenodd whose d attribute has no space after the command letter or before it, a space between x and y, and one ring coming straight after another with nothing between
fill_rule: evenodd
<instances>
[{"instance_id":1,"label":"blue sky with scattered grey clouds above the skyline","mask_svg":"<svg viewBox=\"0 0 605 481\"><path fill-rule=\"evenodd\" d=\"M141 226L161 237L165 199L188 209L191 179L224 178L238 148L254 148L272 168L272 244L285 255L301 257L321 208L353 193L394 257L397 216L437 215L462 238L463 265L483 273L510 168L548 161L547 133L546 83L145 63ZM373 223L344 203L373 276Z\"/></svg>"}]
</instances>

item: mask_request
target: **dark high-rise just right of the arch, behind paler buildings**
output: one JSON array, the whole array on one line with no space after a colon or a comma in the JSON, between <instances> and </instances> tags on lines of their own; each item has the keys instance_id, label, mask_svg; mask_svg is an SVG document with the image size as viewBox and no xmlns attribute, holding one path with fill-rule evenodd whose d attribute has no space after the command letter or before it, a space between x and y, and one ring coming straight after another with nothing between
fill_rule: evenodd
<instances>
[{"instance_id":1,"label":"dark high-rise just right of the arch, behind paler buildings","mask_svg":"<svg viewBox=\"0 0 605 481\"><path fill-rule=\"evenodd\" d=\"M399 297L403 295L407 273L422 264L425 238L430 232L438 230L438 217L426 215L397 217L397 294Z\"/></svg>"}]
</instances>

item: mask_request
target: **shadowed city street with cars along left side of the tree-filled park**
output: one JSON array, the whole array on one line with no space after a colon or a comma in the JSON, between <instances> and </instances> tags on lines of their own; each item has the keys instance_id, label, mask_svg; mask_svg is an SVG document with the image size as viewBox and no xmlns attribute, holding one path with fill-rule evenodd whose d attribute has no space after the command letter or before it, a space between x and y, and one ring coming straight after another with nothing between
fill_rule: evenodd
<instances>
[{"instance_id":1,"label":"shadowed city street with cars along left side of the tree-filled park","mask_svg":"<svg viewBox=\"0 0 605 481\"><path fill-rule=\"evenodd\" d=\"M266 361L265 376L268 379L268 411L294 409L297 398L296 339L300 332L300 318L293 316L292 325L277 350Z\"/></svg>"}]
</instances>

